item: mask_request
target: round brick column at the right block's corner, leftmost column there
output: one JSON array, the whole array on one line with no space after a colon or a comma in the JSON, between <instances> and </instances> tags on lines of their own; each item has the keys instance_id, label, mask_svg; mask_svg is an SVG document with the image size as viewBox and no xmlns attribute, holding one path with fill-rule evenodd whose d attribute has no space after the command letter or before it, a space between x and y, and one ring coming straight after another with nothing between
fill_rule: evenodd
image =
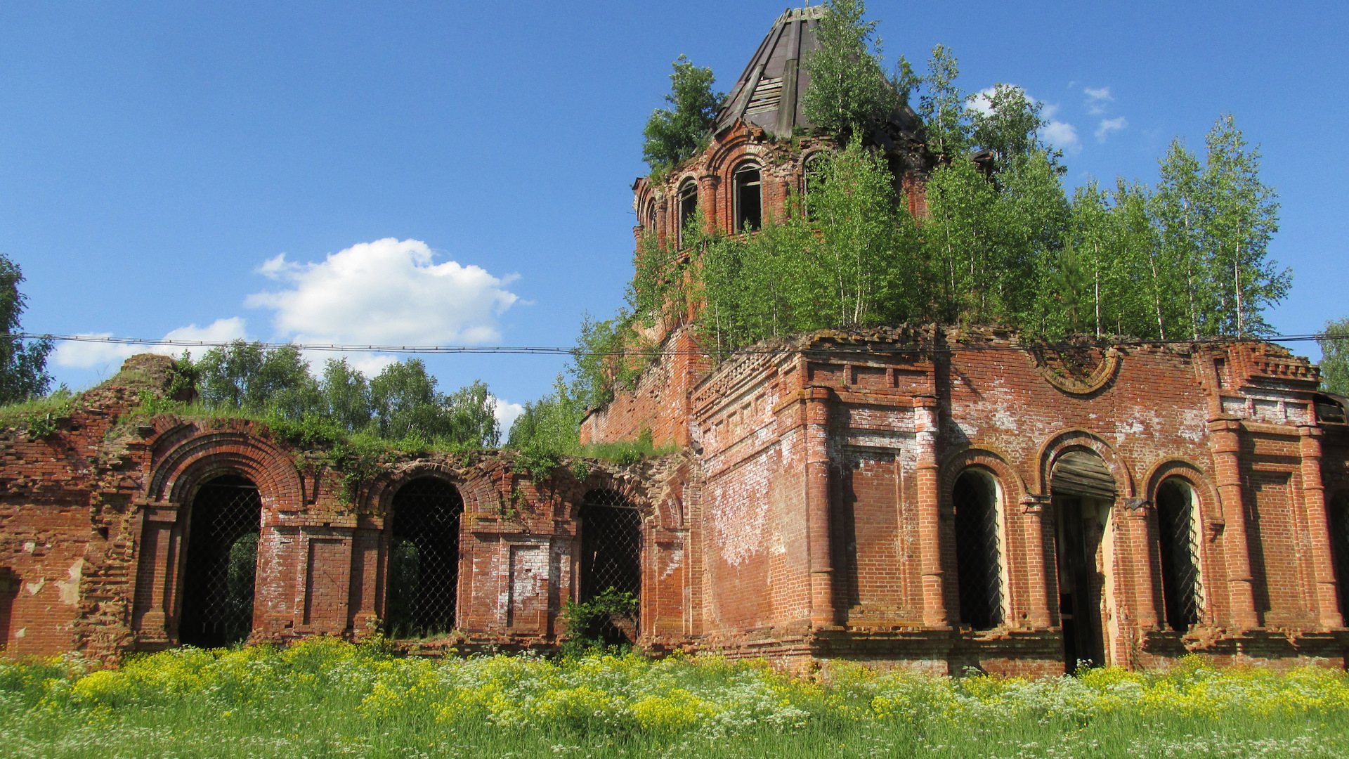
<instances>
[{"instance_id":1,"label":"round brick column at the right block's corner, leftmost column there","mask_svg":"<svg viewBox=\"0 0 1349 759\"><path fill-rule=\"evenodd\" d=\"M805 389L805 512L811 551L811 625L834 627L834 563L830 555L830 396Z\"/></svg>"}]
</instances>

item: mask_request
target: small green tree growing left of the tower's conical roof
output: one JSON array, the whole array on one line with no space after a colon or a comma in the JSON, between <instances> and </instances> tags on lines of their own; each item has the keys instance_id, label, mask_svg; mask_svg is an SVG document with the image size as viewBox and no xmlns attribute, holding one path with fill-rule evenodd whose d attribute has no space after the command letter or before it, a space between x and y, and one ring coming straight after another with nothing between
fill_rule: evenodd
<instances>
[{"instance_id":1,"label":"small green tree growing left of the tower's conical roof","mask_svg":"<svg viewBox=\"0 0 1349 759\"><path fill-rule=\"evenodd\" d=\"M697 153L726 96L712 92L712 69L697 68L684 55L673 63L669 108L657 108L642 130L642 159L653 173L668 172Z\"/></svg>"}]
</instances>

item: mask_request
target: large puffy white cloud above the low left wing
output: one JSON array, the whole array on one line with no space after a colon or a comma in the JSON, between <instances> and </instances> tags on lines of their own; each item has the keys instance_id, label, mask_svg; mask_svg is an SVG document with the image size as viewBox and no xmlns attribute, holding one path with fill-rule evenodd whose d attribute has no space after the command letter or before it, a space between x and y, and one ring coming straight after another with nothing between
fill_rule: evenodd
<instances>
[{"instance_id":1,"label":"large puffy white cloud above the low left wing","mask_svg":"<svg viewBox=\"0 0 1349 759\"><path fill-rule=\"evenodd\" d=\"M386 238L295 263L281 254L258 271L291 289L248 296L275 309L277 331L304 343L451 344L500 339L498 317L518 297L494 277L455 261L433 263L421 240Z\"/></svg>"}]
</instances>

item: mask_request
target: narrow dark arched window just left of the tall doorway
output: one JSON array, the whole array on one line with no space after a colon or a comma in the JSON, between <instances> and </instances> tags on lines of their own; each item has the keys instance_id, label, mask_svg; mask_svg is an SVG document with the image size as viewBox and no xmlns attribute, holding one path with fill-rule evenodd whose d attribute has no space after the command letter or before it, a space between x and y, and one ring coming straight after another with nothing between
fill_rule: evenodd
<instances>
[{"instance_id":1,"label":"narrow dark arched window just left of the tall doorway","mask_svg":"<svg viewBox=\"0 0 1349 759\"><path fill-rule=\"evenodd\" d=\"M951 489L960 621L974 629L1002 624L1002 550L998 486L985 471L966 470Z\"/></svg>"}]
</instances>

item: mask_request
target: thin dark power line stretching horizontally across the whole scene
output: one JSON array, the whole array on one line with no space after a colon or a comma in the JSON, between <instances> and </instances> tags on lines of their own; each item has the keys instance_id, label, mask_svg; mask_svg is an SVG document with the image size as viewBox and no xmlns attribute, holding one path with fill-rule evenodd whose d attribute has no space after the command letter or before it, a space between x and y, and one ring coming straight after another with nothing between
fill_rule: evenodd
<instances>
[{"instance_id":1,"label":"thin dark power line stretching horizontally across the whole scene","mask_svg":"<svg viewBox=\"0 0 1349 759\"><path fill-rule=\"evenodd\" d=\"M147 346L147 347L182 347L182 348L219 348L227 347L235 340L181 340L167 338L112 338L101 335L53 335L38 332L13 332L9 338L24 340L54 340L74 343L103 343L117 346ZM844 340L853 339L843 336ZM1103 340L1094 343L1050 343L1050 344L877 344L876 342L859 340L869 344L851 346L866 352L880 354L908 354L908 352L966 352L966 351L1027 351L1027 350L1074 350L1083 347L1139 347L1139 346L1217 346L1249 342L1292 343L1309 340L1349 340L1349 334L1311 334L1311 335L1271 335L1267 338L1201 338L1201 339L1171 339L1171 340ZM495 354L495 355L575 355L576 347L557 346L376 346L360 343L250 343L262 348L297 348L305 351L333 351L333 352L389 352L389 354ZM774 354L799 352L803 347L786 346L746 346L724 351L696 351L696 350L641 350L625 348L615 351L585 351L587 355L697 355L710 357L714 352L720 355L737 354Z\"/></svg>"}]
</instances>

